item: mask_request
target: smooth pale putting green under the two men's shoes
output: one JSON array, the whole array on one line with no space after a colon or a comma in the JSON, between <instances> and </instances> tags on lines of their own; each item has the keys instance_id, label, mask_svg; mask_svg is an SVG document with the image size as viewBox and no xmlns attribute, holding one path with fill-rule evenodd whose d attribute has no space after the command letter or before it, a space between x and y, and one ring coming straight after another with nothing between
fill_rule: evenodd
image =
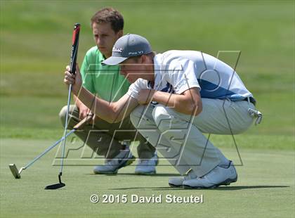
<instances>
[{"instance_id":1,"label":"smooth pale putting green under the two men's shoes","mask_svg":"<svg viewBox=\"0 0 295 218\"><path fill-rule=\"evenodd\" d=\"M59 167L51 165L57 148L23 171L21 179L14 179L9 163L14 162L20 168L51 143L1 140L1 217L291 217L294 214L295 162L291 150L240 149L243 165L237 166L238 181L215 189L170 188L169 177L178 174L161 159L155 176L135 175L135 163L119 170L116 176L96 175L93 166L89 166L92 160L85 160L80 166L65 166L62 177L65 187L44 190L45 186L58 183ZM235 149L223 150L229 158L237 158ZM91 203L93 194L100 197L98 203ZM103 203L103 195L108 195L108 203ZM114 196L114 203L110 195ZM120 200L118 203L117 198L122 200L124 195L127 203ZM162 203L132 203L132 195L162 195ZM166 203L166 195L203 196L203 203Z\"/></svg>"}]
</instances>

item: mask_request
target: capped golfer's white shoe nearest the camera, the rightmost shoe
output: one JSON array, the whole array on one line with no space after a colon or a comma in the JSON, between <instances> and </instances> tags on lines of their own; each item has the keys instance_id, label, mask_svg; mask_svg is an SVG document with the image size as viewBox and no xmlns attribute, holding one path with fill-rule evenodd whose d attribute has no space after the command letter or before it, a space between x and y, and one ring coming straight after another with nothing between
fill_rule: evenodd
<instances>
[{"instance_id":1,"label":"capped golfer's white shoe nearest the camera, the rightmost shoe","mask_svg":"<svg viewBox=\"0 0 295 218\"><path fill-rule=\"evenodd\" d=\"M237 171L230 161L228 167L217 166L203 177L183 181L183 188L216 188L237 181Z\"/></svg>"}]
</instances>

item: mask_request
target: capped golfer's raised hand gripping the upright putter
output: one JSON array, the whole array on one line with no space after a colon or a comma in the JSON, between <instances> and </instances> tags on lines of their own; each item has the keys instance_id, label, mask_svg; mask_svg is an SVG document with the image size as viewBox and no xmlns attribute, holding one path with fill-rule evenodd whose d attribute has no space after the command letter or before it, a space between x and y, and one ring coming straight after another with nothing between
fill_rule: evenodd
<instances>
[{"instance_id":1,"label":"capped golfer's raised hand gripping the upright putter","mask_svg":"<svg viewBox=\"0 0 295 218\"><path fill-rule=\"evenodd\" d=\"M81 79L81 74L80 74L80 69L78 64L76 65L75 74L70 73L69 65L65 67L65 79L63 79L63 82L68 85L72 84L72 92L76 95L78 94L82 86L82 79Z\"/></svg>"}]
</instances>

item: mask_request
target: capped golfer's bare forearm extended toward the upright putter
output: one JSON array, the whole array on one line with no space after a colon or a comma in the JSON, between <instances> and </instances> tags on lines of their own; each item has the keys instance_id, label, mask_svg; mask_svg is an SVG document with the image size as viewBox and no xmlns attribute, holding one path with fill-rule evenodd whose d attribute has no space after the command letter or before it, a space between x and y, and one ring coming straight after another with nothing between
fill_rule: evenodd
<instances>
[{"instance_id":1,"label":"capped golfer's bare forearm extended toward the upright putter","mask_svg":"<svg viewBox=\"0 0 295 218\"><path fill-rule=\"evenodd\" d=\"M96 116L110 123L114 122L114 120L118 120L118 113L112 103L96 97L90 91L84 89L84 87L79 91L79 95L76 92L77 91L73 91L74 95L77 96L81 103L84 103L87 108L90 108Z\"/></svg>"}]
</instances>

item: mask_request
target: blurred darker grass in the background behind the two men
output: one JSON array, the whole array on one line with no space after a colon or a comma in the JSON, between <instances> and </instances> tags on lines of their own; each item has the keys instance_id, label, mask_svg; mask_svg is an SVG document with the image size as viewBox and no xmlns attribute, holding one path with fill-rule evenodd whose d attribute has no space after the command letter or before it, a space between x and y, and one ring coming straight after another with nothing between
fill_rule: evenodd
<instances>
[{"instance_id":1,"label":"blurred darker grass in the background behind the two men","mask_svg":"<svg viewBox=\"0 0 295 218\"><path fill-rule=\"evenodd\" d=\"M93 46L89 19L106 5L122 11L125 32L143 34L155 51L195 49L214 56L242 51L237 72L265 115L249 134L294 133L291 1L1 1L1 127L6 129L1 136L15 136L17 123L18 129L29 126L39 135L47 128L48 137L55 136L67 95L63 69L69 62L72 25L82 25L81 64ZM220 53L219 58L233 66L237 53ZM25 132L20 135L29 137Z\"/></svg>"}]
</instances>

